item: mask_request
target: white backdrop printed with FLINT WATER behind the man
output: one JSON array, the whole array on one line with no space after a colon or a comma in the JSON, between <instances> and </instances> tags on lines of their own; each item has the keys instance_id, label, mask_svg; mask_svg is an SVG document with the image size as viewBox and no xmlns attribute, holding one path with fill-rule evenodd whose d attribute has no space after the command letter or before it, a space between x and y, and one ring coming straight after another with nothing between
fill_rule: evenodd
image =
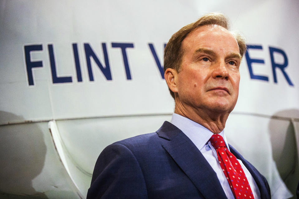
<instances>
[{"instance_id":1,"label":"white backdrop printed with FLINT WATER behind the man","mask_svg":"<svg viewBox=\"0 0 299 199\"><path fill-rule=\"evenodd\" d=\"M164 44L206 12L226 14L250 45L240 67L239 99L225 128L228 139L266 176L274 198L295 191L297 0L2 0L0 5L0 161L5 162L0 179L10 180L0 180L0 192L85 197L105 146L154 132L171 118L174 102L160 73ZM47 127L52 120L59 135L54 142ZM248 139L252 146L242 144ZM28 163L40 167L26 176L31 185L16 183L11 165L32 153L42 158ZM60 176L53 179L56 188L46 181L51 175Z\"/></svg>"}]
</instances>

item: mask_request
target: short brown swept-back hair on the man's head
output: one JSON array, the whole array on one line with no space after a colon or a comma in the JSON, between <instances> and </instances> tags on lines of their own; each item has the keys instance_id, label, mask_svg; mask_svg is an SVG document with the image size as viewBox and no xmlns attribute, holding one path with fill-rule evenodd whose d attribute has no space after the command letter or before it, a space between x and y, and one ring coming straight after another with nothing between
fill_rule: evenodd
<instances>
[{"instance_id":1,"label":"short brown swept-back hair on the man's head","mask_svg":"<svg viewBox=\"0 0 299 199\"><path fill-rule=\"evenodd\" d=\"M230 30L229 19L225 15L216 12L205 14L194 23L184 26L172 35L164 49L164 72L167 68L173 68L180 72L183 57L182 42L192 30L203 25L220 25L226 30ZM232 33L238 42L240 55L243 57L246 51L245 39L239 33ZM169 91L174 99L174 93L170 89Z\"/></svg>"}]
</instances>

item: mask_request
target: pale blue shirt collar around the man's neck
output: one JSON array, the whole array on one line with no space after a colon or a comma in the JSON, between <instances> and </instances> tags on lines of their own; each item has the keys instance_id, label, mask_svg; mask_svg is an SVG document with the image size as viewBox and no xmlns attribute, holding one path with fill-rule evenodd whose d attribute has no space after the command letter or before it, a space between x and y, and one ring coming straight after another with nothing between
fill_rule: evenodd
<instances>
[{"instance_id":1,"label":"pale blue shirt collar around the man's neck","mask_svg":"<svg viewBox=\"0 0 299 199\"><path fill-rule=\"evenodd\" d=\"M201 150L208 143L214 133L212 133L209 129L198 124L191 119L185 118L179 114L173 113L171 122L174 126L178 127L194 144L195 146ZM226 137L224 134L224 130L219 133L224 139L225 145L228 150L228 143L226 141Z\"/></svg>"}]
</instances>

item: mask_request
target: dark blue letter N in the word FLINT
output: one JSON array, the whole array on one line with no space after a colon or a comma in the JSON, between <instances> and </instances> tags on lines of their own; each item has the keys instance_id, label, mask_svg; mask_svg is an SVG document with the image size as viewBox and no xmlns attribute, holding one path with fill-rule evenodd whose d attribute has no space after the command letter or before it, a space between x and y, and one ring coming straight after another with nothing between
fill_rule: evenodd
<instances>
[{"instance_id":1,"label":"dark blue letter N in the word FLINT","mask_svg":"<svg viewBox=\"0 0 299 199\"><path fill-rule=\"evenodd\" d=\"M106 79L112 80L106 44L102 43L102 49L103 49L103 54L104 54L104 59L105 59L105 64L106 64L105 68L103 67L100 60L97 58L96 54L93 52L93 49L91 48L91 46L89 44L85 43L84 49L85 49L89 81L93 81L93 71L91 68L90 57L93 57L93 60L97 63L97 66L101 69L101 71L105 75Z\"/></svg>"}]
</instances>

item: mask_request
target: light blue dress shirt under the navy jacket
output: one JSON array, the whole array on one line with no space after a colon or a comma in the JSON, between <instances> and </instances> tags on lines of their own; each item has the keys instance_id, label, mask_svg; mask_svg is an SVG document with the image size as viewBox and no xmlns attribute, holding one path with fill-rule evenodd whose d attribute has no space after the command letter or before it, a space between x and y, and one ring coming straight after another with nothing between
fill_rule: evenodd
<instances>
[{"instance_id":1,"label":"light blue dress shirt under the navy jacket","mask_svg":"<svg viewBox=\"0 0 299 199\"><path fill-rule=\"evenodd\" d=\"M208 163L211 165L211 167L214 169L214 171L217 174L217 177L219 179L219 182L225 192L225 195L229 199L234 199L234 195L230 189L230 185L227 182L227 179L221 169L220 164L218 164L217 159L217 152L214 149L214 147L211 145L211 142L209 141L213 133L208 130L206 127L188 119L181 115L178 115L176 113L173 113L171 123L178 127L189 139L195 144L195 146L200 150L202 155L206 158ZM224 134L224 130L219 133L225 141L225 145L227 146L228 150L229 146L226 141L226 137ZM260 192L257 184L254 181L254 178L250 174L250 172L246 169L244 164L241 160L237 159L240 162L240 165L242 166L244 173L247 177L247 180L249 182L251 191L253 192L254 198L259 199L260 198Z\"/></svg>"}]
</instances>

